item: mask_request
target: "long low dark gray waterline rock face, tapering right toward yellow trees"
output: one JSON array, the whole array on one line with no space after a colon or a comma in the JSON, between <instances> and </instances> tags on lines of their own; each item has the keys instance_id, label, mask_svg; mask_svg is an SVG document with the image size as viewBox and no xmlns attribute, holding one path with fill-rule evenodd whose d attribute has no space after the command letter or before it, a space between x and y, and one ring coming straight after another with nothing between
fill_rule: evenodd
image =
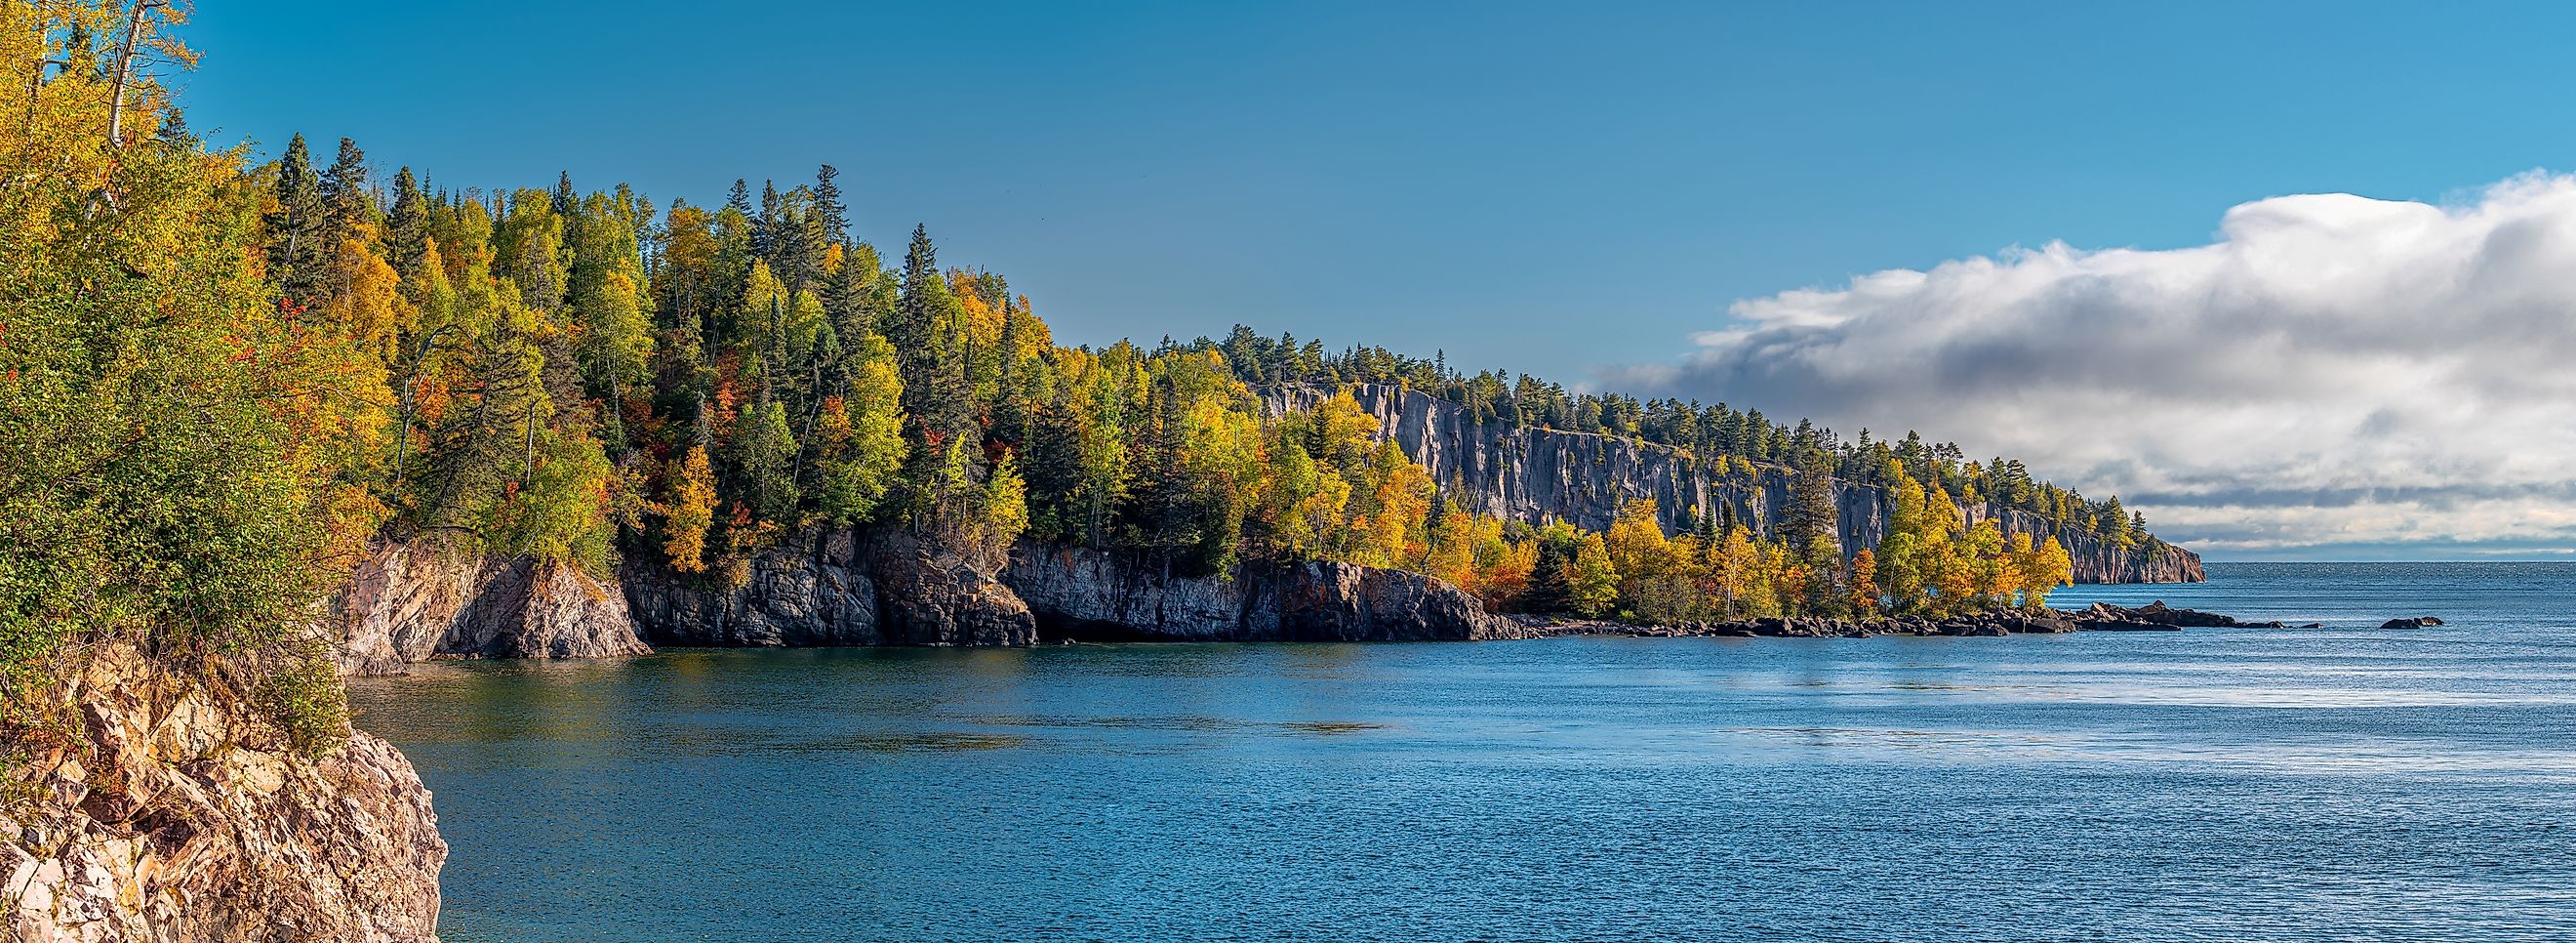
<instances>
[{"instance_id":1,"label":"long low dark gray waterline rock face, tapering right toward yellow trees","mask_svg":"<svg viewBox=\"0 0 2576 943\"><path fill-rule=\"evenodd\" d=\"M1023 544L1007 582L1051 639L1463 642L1507 636L1473 595L1378 567L1309 562L1170 577L1113 551Z\"/></svg>"}]
</instances>

